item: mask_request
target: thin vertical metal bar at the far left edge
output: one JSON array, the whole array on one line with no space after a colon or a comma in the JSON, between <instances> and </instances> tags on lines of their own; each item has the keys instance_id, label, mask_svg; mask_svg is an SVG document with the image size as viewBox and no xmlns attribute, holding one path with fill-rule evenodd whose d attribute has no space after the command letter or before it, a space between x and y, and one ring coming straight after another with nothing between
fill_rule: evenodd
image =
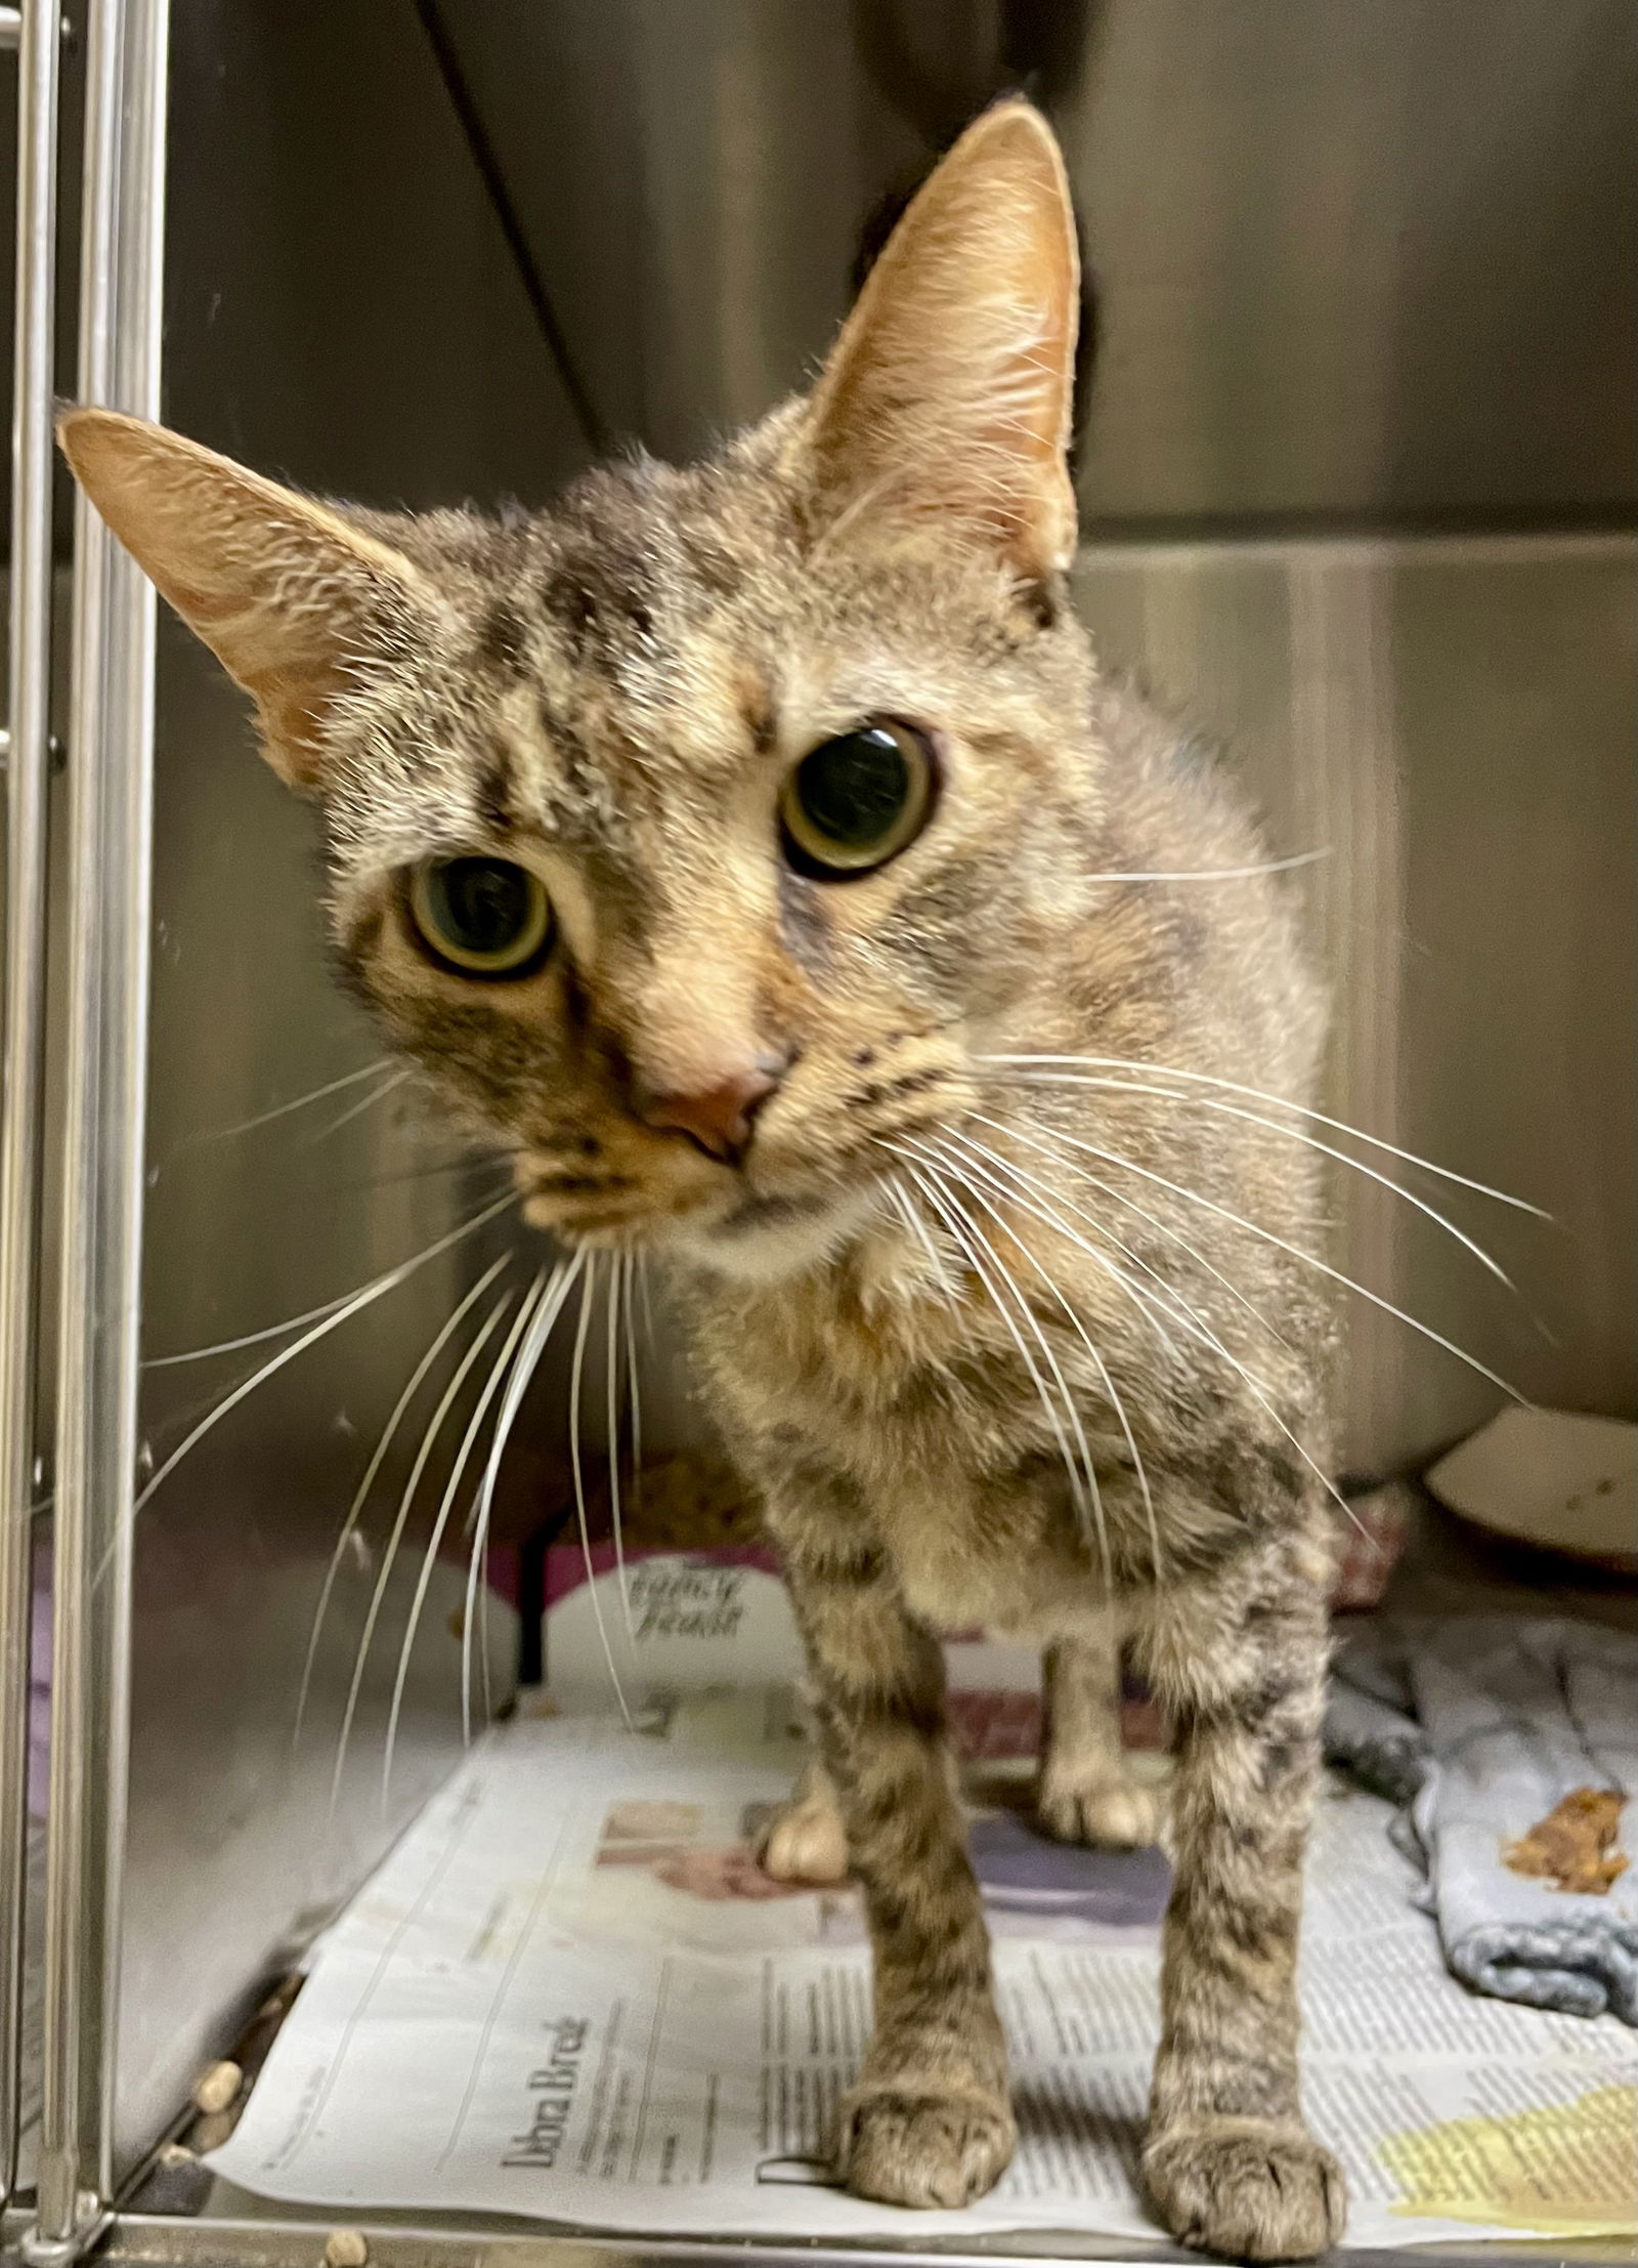
<instances>
[{"instance_id":1,"label":"thin vertical metal bar at the far left edge","mask_svg":"<svg viewBox=\"0 0 1638 2268\"><path fill-rule=\"evenodd\" d=\"M5 1041L0 1052L0 2200L23 2125L23 1903L29 1803L29 1547L39 1354L45 801L52 703L52 347L57 302L57 0L18 45L18 249L11 379Z\"/></svg>"}]
</instances>

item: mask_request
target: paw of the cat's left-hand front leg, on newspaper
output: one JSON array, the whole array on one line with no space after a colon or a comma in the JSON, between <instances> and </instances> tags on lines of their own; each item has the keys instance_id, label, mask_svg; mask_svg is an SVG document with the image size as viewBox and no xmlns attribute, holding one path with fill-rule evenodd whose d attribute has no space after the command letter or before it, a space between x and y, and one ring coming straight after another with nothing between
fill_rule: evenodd
<instances>
[{"instance_id":1,"label":"paw of the cat's left-hand front leg, on newspaper","mask_svg":"<svg viewBox=\"0 0 1638 2268\"><path fill-rule=\"evenodd\" d=\"M843 2096L836 2170L881 2204L972 2204L1006 2173L1015 2139L1006 2098L865 2082Z\"/></svg>"}]
</instances>

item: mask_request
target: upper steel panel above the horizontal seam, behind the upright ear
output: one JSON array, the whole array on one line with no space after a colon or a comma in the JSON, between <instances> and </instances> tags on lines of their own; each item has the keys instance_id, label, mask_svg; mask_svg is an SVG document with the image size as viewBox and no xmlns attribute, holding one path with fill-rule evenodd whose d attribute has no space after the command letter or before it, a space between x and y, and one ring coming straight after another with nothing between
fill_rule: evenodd
<instances>
[{"instance_id":1,"label":"upper steel panel above the horizontal seam, behind the upright ear","mask_svg":"<svg viewBox=\"0 0 1638 2268\"><path fill-rule=\"evenodd\" d=\"M1638 499L1627 0L444 0L594 397L659 454L825 349L1004 79L1101 304L1090 522Z\"/></svg>"}]
</instances>

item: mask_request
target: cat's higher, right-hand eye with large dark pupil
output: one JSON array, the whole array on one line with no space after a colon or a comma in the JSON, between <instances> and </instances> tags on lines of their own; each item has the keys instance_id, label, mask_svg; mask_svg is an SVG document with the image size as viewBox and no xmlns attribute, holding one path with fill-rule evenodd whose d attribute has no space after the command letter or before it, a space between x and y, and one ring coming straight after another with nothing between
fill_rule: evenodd
<instances>
[{"instance_id":1,"label":"cat's higher, right-hand eye with large dark pupil","mask_svg":"<svg viewBox=\"0 0 1638 2268\"><path fill-rule=\"evenodd\" d=\"M933 755L908 723L877 721L809 748L779 789L786 857L841 882L915 841L933 805Z\"/></svg>"}]
</instances>

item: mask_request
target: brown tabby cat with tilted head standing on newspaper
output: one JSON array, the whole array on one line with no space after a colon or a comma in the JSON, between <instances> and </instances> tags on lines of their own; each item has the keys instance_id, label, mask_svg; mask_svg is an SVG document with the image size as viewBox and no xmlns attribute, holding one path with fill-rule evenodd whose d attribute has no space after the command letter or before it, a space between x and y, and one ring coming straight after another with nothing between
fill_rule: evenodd
<instances>
[{"instance_id":1,"label":"brown tabby cat with tilted head standing on newspaper","mask_svg":"<svg viewBox=\"0 0 1638 2268\"><path fill-rule=\"evenodd\" d=\"M1072 612L1076 315L1058 147L1004 102L813 390L707 463L385 515L106 411L61 440L315 798L392 1046L537 1227L671 1270L809 1651L768 1862L845 1837L870 1912L847 2184L952 2207L1013 2152L936 1631L1047 1649L1044 1819L1131 1842L1119 1633L1176 1735L1144 2182L1291 2259L1343 2218L1294 1994L1323 1018L1235 796Z\"/></svg>"}]
</instances>

